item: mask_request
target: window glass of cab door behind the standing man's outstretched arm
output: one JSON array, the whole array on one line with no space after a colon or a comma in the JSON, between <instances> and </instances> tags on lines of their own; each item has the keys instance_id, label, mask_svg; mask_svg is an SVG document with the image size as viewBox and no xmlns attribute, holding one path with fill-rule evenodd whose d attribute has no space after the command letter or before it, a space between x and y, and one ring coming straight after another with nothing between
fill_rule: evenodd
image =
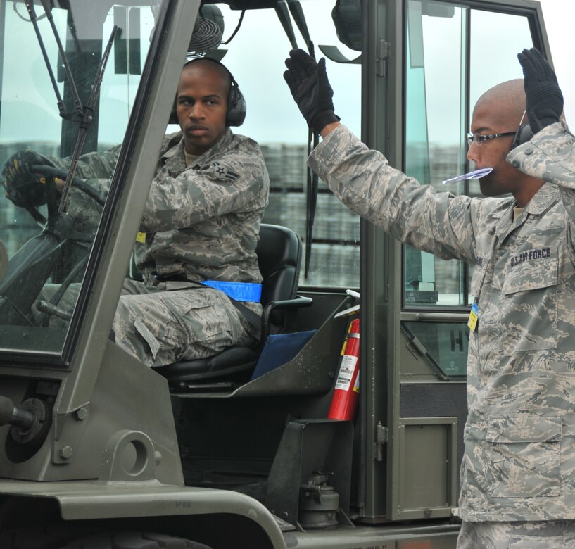
<instances>
[{"instance_id":1,"label":"window glass of cab door behind the standing man's outstretched arm","mask_svg":"<svg viewBox=\"0 0 575 549\"><path fill-rule=\"evenodd\" d=\"M437 191L480 196L478 182L442 181L473 169L465 140L472 106L495 84L522 77L517 53L533 44L529 21L420 0L406 10L405 172ZM404 246L405 306L468 305L472 268Z\"/></svg>"}]
</instances>

